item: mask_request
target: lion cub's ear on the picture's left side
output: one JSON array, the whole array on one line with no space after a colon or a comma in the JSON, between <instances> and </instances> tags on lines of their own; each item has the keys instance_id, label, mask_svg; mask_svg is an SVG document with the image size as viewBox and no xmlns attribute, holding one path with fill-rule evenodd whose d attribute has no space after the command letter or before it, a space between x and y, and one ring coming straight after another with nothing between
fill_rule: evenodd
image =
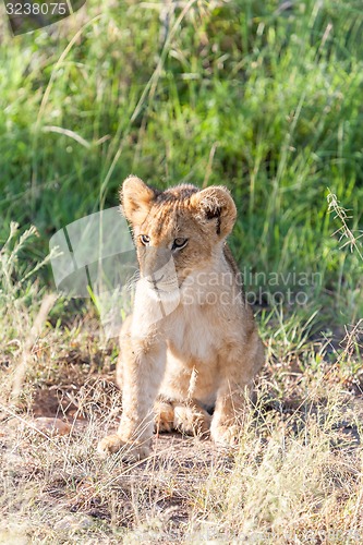
<instances>
[{"instance_id":1,"label":"lion cub's ear on the picture's left side","mask_svg":"<svg viewBox=\"0 0 363 545\"><path fill-rule=\"evenodd\" d=\"M135 175L129 175L120 189L121 208L133 225L141 225L153 206L157 192Z\"/></svg>"}]
</instances>

